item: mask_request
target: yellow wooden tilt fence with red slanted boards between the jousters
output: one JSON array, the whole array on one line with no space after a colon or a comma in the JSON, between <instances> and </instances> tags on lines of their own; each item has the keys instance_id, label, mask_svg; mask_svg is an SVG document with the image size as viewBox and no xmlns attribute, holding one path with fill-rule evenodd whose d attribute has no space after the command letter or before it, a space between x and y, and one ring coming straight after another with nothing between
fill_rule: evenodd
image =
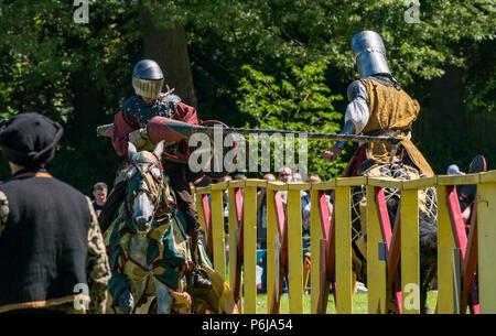
<instances>
[{"instance_id":1,"label":"yellow wooden tilt fence with red slanted boards between the jousters","mask_svg":"<svg viewBox=\"0 0 496 336\"><path fill-rule=\"evenodd\" d=\"M477 185L468 235L455 188L462 184ZM301 191L311 196L311 313L326 312L330 288L336 312L353 313L351 187L356 185L366 185L367 195L368 313L386 313L388 295L397 299L397 312L420 313L418 196L419 191L433 186L438 192L435 312L464 313L468 307L475 314L496 313L496 171L410 181L338 177L314 184L248 178L194 189L207 252L215 270L225 279L225 248L228 248L229 285L244 313L279 313L284 278L289 312L303 313L308 272L302 250ZM385 187L401 189L399 216L392 230ZM267 312L257 312L257 189L260 188L267 193ZM325 194L332 191L335 202L330 210ZM228 198L227 245L224 193ZM287 205L282 193L287 193Z\"/></svg>"}]
</instances>

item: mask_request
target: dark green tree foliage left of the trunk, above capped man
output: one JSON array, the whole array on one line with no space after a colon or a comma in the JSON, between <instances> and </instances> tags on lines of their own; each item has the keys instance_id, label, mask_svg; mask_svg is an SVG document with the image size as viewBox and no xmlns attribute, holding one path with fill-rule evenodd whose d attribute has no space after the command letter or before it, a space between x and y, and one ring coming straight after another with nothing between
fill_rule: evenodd
<instances>
[{"instance_id":1,"label":"dark green tree foliage left of the trunk, above capped man","mask_svg":"<svg viewBox=\"0 0 496 336\"><path fill-rule=\"evenodd\" d=\"M74 21L72 1L0 1L0 8L1 121L37 111L62 122L51 172L87 193L98 180L110 184L120 160L95 126L111 122L131 93L130 68L140 57L137 8L89 1L87 24Z\"/></svg>"}]
</instances>

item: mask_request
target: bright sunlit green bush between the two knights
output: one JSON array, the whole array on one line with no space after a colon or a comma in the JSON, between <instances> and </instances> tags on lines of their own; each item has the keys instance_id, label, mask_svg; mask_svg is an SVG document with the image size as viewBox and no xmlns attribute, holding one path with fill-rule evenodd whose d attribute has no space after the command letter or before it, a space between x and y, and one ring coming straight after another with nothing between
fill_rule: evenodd
<instances>
[{"instance_id":1,"label":"bright sunlit green bush between the two knights","mask_svg":"<svg viewBox=\"0 0 496 336\"><path fill-rule=\"evenodd\" d=\"M249 65L242 67L245 76L240 79L240 98L237 102L239 111L250 115L255 120L246 126L304 132L338 132L342 113L335 110L333 101L343 97L332 95L325 85L325 63L315 62L303 67L287 63L288 74L281 80ZM309 173L327 176L336 175L342 170L341 161L330 163L322 160L322 151L328 147L327 141L310 141Z\"/></svg>"}]
</instances>

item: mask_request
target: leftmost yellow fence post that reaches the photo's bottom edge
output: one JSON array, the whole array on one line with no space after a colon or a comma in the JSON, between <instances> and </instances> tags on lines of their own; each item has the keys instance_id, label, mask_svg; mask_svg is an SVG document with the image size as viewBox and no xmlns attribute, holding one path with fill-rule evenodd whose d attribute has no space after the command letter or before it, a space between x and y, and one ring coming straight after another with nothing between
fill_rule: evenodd
<instances>
[{"instance_id":1,"label":"leftmost yellow fence post that reaches the photo's bottom edge","mask_svg":"<svg viewBox=\"0 0 496 336\"><path fill-rule=\"evenodd\" d=\"M245 181L244 195L244 302L246 314L257 313L257 187Z\"/></svg>"}]
</instances>

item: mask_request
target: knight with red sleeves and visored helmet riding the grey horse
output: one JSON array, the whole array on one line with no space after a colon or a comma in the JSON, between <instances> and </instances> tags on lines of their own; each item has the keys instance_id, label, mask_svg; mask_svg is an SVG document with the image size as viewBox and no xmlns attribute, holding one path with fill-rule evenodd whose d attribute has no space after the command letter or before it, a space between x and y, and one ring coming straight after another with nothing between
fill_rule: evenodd
<instances>
[{"instance_id":1,"label":"knight with red sleeves and visored helmet riding the grey horse","mask_svg":"<svg viewBox=\"0 0 496 336\"><path fill-rule=\"evenodd\" d=\"M166 93L162 93L163 83L164 76L157 62L142 59L136 64L132 73L132 87L136 95L120 105L111 129L112 145L119 156L127 155L128 141L133 143L138 151L152 151L154 149L154 144L147 132L147 127L153 117L162 116L198 124L196 109L182 102L181 98L173 95L173 89L169 89L169 87ZM187 169L187 151L188 147L185 141L168 144L164 152L169 155L163 155L162 165L164 174L169 176L171 188L176 195L177 207L186 221L186 234L192 238L192 257L197 264L197 242L202 228L198 224L198 215L190 188L193 175ZM171 154L175 156L175 160L170 160ZM181 161L183 163L180 163ZM120 181L118 174L115 188L109 195L109 207L103 212L100 225L103 225L104 230L109 224L108 219L115 213L116 199L123 198L123 188L119 186ZM211 288L208 280L201 277L197 280L198 286Z\"/></svg>"}]
</instances>

